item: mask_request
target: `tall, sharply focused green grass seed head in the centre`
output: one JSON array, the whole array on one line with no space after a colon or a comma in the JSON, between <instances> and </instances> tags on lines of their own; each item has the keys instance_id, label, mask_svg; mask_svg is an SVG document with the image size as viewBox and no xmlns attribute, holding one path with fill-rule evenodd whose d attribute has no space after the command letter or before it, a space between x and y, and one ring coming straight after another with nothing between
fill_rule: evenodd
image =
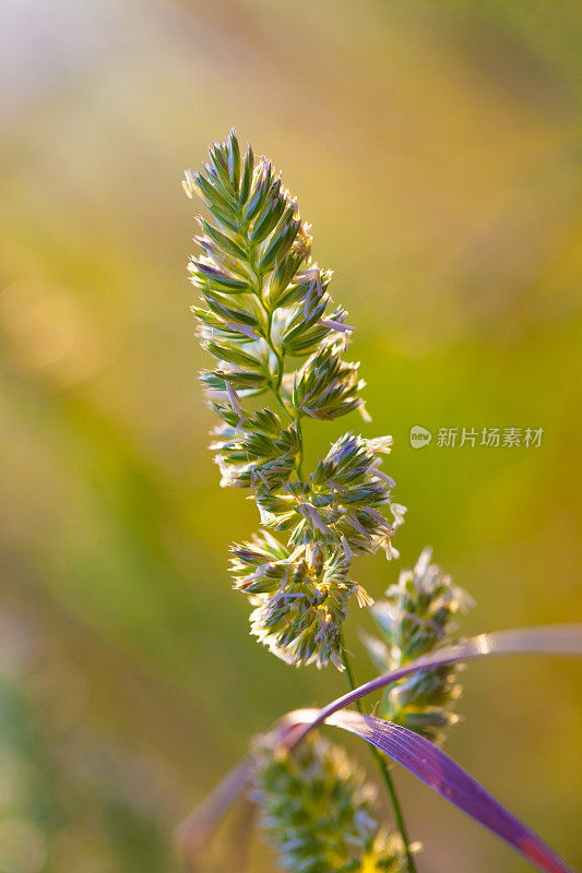
<instances>
[{"instance_id":1,"label":"tall, sharply focused green grass seed head in the centre","mask_svg":"<svg viewBox=\"0 0 582 873\"><path fill-rule=\"evenodd\" d=\"M233 548L235 587L251 598L252 632L275 655L342 669L348 601L368 602L349 578L351 561L379 548L396 554L404 507L392 502L394 482L380 469L391 439L347 433L304 474L305 418L358 409L368 420L358 364L344 359L352 327L271 163L256 162L250 145L241 156L234 131L209 155L185 181L213 216L198 217L201 253L189 264L198 333L216 359L200 379L221 418L211 445L221 483L251 490L264 528Z\"/></svg>"}]
</instances>

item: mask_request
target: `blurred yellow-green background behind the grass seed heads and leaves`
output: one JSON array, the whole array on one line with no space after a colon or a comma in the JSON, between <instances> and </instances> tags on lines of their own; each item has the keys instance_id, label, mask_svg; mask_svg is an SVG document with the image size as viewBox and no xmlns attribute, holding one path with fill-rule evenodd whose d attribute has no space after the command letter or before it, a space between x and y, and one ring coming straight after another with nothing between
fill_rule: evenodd
<instances>
[{"instance_id":1,"label":"blurred yellow-green background behind the grass seed heads and leaves","mask_svg":"<svg viewBox=\"0 0 582 873\"><path fill-rule=\"evenodd\" d=\"M478 601L467 633L580 620L582 4L4 0L1 16L0 873L166 873L174 826L248 736L343 689L263 650L229 587L257 514L205 449L182 170L234 124L298 195L358 328L365 433L394 436L401 565L435 546ZM413 424L545 433L417 451ZM308 427L311 457L347 427ZM397 571L356 567L377 597ZM348 623L361 680L365 623ZM574 866L581 692L575 661L476 663L447 745ZM421 873L528 869L396 778ZM272 869L256 847L251 869Z\"/></svg>"}]
</instances>

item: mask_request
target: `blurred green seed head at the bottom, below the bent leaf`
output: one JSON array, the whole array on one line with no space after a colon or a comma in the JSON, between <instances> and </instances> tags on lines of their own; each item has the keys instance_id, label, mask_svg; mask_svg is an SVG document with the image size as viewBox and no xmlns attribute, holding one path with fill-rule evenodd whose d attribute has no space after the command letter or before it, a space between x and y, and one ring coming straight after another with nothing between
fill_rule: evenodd
<instances>
[{"instance_id":1,"label":"blurred green seed head at the bottom, below the bent leaf","mask_svg":"<svg viewBox=\"0 0 582 873\"><path fill-rule=\"evenodd\" d=\"M253 799L266 841L293 873L402 873L400 838L379 828L375 787L345 751L309 734L293 752L256 749Z\"/></svg>"}]
</instances>

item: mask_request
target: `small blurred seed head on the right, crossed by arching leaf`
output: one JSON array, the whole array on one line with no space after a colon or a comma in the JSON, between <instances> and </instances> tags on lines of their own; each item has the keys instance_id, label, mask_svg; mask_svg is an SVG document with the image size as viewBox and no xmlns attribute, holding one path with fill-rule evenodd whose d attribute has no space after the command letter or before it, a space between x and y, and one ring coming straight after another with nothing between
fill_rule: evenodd
<instances>
[{"instance_id":1,"label":"small blurred seed head on the right, crossed by arching leaf","mask_svg":"<svg viewBox=\"0 0 582 873\"><path fill-rule=\"evenodd\" d=\"M366 636L364 642L382 672L455 642L455 617L473 606L466 591L430 563L431 554L425 549L414 570L402 571L387 599L372 607L381 638ZM454 704L462 691L460 669L419 670L401 680L384 692L379 715L440 744L447 728L459 720Z\"/></svg>"}]
</instances>

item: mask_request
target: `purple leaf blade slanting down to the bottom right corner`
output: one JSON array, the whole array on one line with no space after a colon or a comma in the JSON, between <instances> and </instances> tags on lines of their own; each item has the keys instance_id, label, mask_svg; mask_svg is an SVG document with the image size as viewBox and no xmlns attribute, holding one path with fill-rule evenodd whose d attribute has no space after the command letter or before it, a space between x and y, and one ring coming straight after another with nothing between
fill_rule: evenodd
<instances>
[{"instance_id":1,"label":"purple leaf blade slanting down to the bottom right corner","mask_svg":"<svg viewBox=\"0 0 582 873\"><path fill-rule=\"evenodd\" d=\"M289 713L288 723L313 723L317 709ZM526 827L466 770L424 737L407 728L352 710L332 714L326 725L355 733L402 764L441 797L511 844L544 873L573 873L544 840Z\"/></svg>"}]
</instances>

